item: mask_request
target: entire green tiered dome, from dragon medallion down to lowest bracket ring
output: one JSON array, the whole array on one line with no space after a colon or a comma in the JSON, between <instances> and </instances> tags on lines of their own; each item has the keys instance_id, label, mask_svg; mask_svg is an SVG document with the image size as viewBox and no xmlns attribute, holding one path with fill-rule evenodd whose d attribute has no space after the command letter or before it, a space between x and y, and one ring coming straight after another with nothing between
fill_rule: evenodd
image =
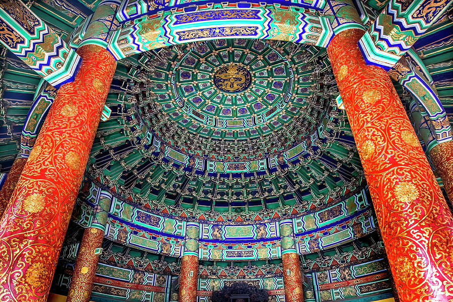
<instances>
[{"instance_id":1,"label":"entire green tiered dome, from dragon medallion down to lowest bracket ring","mask_svg":"<svg viewBox=\"0 0 453 302\"><path fill-rule=\"evenodd\" d=\"M133 79L118 83L124 127L101 130L89 165L122 196L193 218L252 220L304 212L359 187L325 50L220 39L136 59Z\"/></svg>"}]
</instances>

